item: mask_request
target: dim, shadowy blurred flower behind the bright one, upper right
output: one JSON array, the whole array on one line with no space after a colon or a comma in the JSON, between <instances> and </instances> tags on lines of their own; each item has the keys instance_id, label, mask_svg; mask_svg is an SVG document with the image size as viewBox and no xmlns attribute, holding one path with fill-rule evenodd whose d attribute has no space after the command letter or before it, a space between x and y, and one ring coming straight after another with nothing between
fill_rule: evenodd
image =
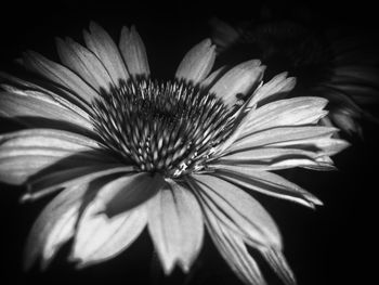
<instances>
[{"instance_id":1,"label":"dim, shadowy blurred flower behind the bright one, upper right","mask_svg":"<svg viewBox=\"0 0 379 285\"><path fill-rule=\"evenodd\" d=\"M227 59L257 56L269 66L269 74L289 72L298 79L290 95L328 99L329 115L323 122L362 137L363 119L378 122L369 112L379 99L375 38L364 37L367 33L362 30L321 29L315 23L305 23L295 8L285 10L285 16L282 13L263 7L261 15L236 26L212 18L212 40ZM303 14L312 18L310 11L302 10Z\"/></svg>"}]
</instances>

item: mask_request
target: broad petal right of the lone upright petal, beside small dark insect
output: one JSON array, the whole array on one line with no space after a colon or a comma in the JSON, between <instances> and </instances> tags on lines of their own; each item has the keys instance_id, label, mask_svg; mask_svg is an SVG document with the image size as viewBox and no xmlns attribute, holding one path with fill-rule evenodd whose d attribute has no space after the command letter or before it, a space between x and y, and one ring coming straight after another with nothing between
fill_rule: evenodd
<instances>
[{"instance_id":1,"label":"broad petal right of the lone upright petal, beside small dark insect","mask_svg":"<svg viewBox=\"0 0 379 285\"><path fill-rule=\"evenodd\" d=\"M260 61L252 60L233 67L214 83L210 92L222 98L225 104L234 105L237 94L246 95L262 79L265 66L260 64Z\"/></svg>"}]
</instances>

